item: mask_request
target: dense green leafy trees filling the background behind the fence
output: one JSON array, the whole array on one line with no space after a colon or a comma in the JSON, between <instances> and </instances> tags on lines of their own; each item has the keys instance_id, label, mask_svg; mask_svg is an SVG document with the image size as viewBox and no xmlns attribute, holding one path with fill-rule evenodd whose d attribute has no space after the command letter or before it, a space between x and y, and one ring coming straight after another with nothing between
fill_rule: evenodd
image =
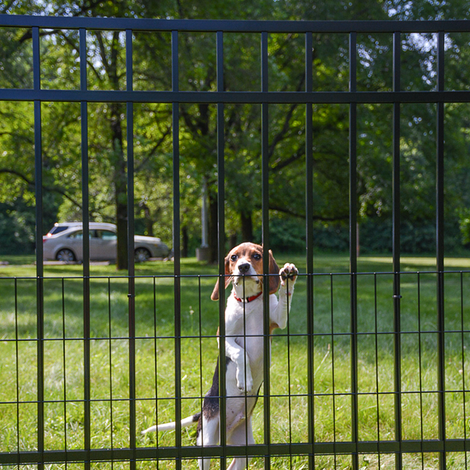
<instances>
[{"instance_id":1,"label":"dense green leafy trees filling the background behind the fence","mask_svg":"<svg viewBox=\"0 0 470 470\"><path fill-rule=\"evenodd\" d=\"M468 2L467 2L468 3ZM45 5L45 6L44 6ZM2 9L3 8L3 9ZM6 9L5 9L6 8ZM44 10L45 8L45 10ZM231 2L46 2L25 0L0 6L6 13L109 16L123 18L233 18L250 20L386 20L388 18L464 18L466 0L452 6L426 0L367 0L364 4L319 4L314 0ZM40 31L41 87L79 89L80 61L77 31ZM446 89L468 89L470 35L446 36ZM87 87L125 89L125 35L119 31L87 31ZM0 30L0 86L32 87L30 29ZM136 90L170 90L171 34L135 32L133 38ZM308 51L310 56L310 51ZM402 34L404 90L436 87L436 34ZM349 81L348 34L314 34L311 51L315 91L346 91ZM179 89L217 89L215 34L179 34ZM305 38L303 34L269 34L269 90L305 89ZM357 89L388 91L392 88L392 37L357 34ZM224 34L224 89L257 91L261 87L260 34ZM460 227L467 243L466 220L470 196L468 104L445 106L445 218ZM126 141L127 116L122 103L89 103L89 216L91 220L127 218ZM180 193L181 224L186 250L200 239L201 187L208 186L209 225L217 233L217 106L181 105ZM392 117L388 104L357 106L357 197L361 227L369 220L389 220L392 211ZM279 246L282 231L300 249L305 230L305 106L269 105L269 208L272 233ZM20 197L34 205L34 150L32 103L0 103L0 202ZM432 104L401 106L400 182L403 227L431 227L435 217L436 108ZM172 109L163 104L134 103L134 214L145 234L172 239ZM43 192L54 207L55 218L82 217L80 106L42 103ZM260 106L224 106L224 154L227 236L255 239L261 208ZM348 106L315 103L313 127L314 217L319 221L319 246L344 245L341 224L348 221ZM279 222L281 221L282 222ZM388 222L387 222L388 223ZM279 225L279 236L278 228ZM375 226L376 222L371 222ZM119 225L119 224L118 224ZM381 227L379 224L377 227ZM284 227L284 228L282 228ZM332 228L334 227L334 228ZM8 229L7 229L8 230ZM258 232L257 232L258 230ZM364 230L367 229L364 228ZM380 231L381 229L379 229ZM385 229L384 229L385 230ZM405 228L404 228L405 230ZM406 229L407 230L407 229ZM118 239L125 238L122 228ZM331 231L331 236L329 236ZM292 232L292 233L291 233ZM341 235L340 235L341 232ZM13 236L13 229L8 237ZM302 233L304 233L302 235ZM407 233L407 232L406 232ZM424 232L423 232L424 233ZM430 232L431 233L431 232ZM415 234L416 235L416 234ZM406 239L405 231L403 235ZM413 235L414 236L414 235ZM424 250L426 236L406 246ZM367 246L376 246L374 237ZM458 250L462 243L450 243ZM336 249L335 248L335 249ZM374 248L375 249L375 248ZM427 248L426 248L427 250Z\"/></svg>"}]
</instances>

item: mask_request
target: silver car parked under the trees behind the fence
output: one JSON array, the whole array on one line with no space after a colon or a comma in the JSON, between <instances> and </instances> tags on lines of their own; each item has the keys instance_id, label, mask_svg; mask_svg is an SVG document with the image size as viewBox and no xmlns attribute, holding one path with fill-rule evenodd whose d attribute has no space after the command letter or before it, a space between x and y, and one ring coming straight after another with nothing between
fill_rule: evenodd
<instances>
[{"instance_id":1,"label":"silver car parked under the trees behind the fence","mask_svg":"<svg viewBox=\"0 0 470 470\"><path fill-rule=\"evenodd\" d=\"M115 260L118 236L115 224L90 222L90 260ZM63 262L83 261L82 222L56 223L42 237L44 260ZM148 258L167 258L170 254L163 241L154 236L134 235L134 254L137 262Z\"/></svg>"}]
</instances>

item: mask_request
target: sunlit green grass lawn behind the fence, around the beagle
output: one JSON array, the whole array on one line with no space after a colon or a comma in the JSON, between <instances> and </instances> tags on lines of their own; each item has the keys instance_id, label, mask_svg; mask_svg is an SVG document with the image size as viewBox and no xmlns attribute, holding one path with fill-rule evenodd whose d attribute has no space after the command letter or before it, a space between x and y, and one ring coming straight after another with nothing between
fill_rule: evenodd
<instances>
[{"instance_id":1,"label":"sunlit green grass lawn behind the fence, around the beagle","mask_svg":"<svg viewBox=\"0 0 470 470\"><path fill-rule=\"evenodd\" d=\"M9 260L10 261L10 260ZM32 261L32 260L30 260ZM305 260L279 256L279 265ZM445 386L447 438L469 427L470 260L447 260L445 274ZM25 259L23 258L23 262ZM0 452L37 448L37 319L34 265L0 267ZM357 278L358 399L360 440L394 440L393 275L391 259L360 257ZM155 423L174 420L174 278L171 262L137 266L136 433L139 447L172 446L174 433L141 436ZM403 258L401 276L402 436L438 438L436 263ZM348 258L315 257L315 441L351 440L350 278ZM417 274L419 272L419 274ZM182 260L182 414L201 407L217 359L218 305L210 300L217 268ZM83 281L80 265L44 267L44 396L46 450L82 449L84 443ZM91 266L91 447L129 446L127 279L114 266ZM16 278L15 278L16 277ZM273 443L307 442L307 278L296 284L288 328L272 341L271 436ZM289 336L286 336L288 333ZM20 341L14 341L15 339ZM156 338L156 339L155 339ZM64 341L65 339L65 341ZM155 396L158 405L155 406ZM66 400L66 402L65 402ZM263 442L262 399L255 408L255 440ZM158 441L157 441L158 439ZM193 445L195 428L183 431ZM394 468L380 455L381 468ZM345 469L350 456L316 456L315 468ZM363 468L379 468L377 455L361 455ZM115 464L116 466L117 464ZM172 468L172 462L161 463ZM437 468L437 454L404 455L404 466ZM262 468L254 459L250 468ZM303 469L306 457L272 459L273 468ZM196 468L196 462L187 463ZM119 466L116 466L119 468ZM447 468L465 468L449 455Z\"/></svg>"}]
</instances>

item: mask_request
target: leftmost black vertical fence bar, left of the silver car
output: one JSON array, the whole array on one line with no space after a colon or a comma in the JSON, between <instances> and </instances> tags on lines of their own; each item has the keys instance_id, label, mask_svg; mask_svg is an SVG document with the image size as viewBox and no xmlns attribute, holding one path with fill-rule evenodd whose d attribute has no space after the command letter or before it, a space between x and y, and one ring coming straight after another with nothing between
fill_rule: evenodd
<instances>
[{"instance_id":1,"label":"leftmost black vertical fence bar, left of the silver car","mask_svg":"<svg viewBox=\"0 0 470 470\"><path fill-rule=\"evenodd\" d=\"M39 27L32 28L34 91L41 89ZM44 260L42 247L41 101L34 101L34 188L36 201L37 450L44 452ZM39 464L39 470L44 464Z\"/></svg>"}]
</instances>

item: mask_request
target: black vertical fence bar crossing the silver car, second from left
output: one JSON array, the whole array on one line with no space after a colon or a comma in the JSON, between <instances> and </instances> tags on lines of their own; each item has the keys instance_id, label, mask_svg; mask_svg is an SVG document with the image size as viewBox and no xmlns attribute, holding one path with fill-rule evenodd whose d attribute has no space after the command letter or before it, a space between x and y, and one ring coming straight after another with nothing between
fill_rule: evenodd
<instances>
[{"instance_id":1,"label":"black vertical fence bar crossing the silver car, second from left","mask_svg":"<svg viewBox=\"0 0 470 470\"><path fill-rule=\"evenodd\" d=\"M80 28L80 91L87 91L87 30ZM82 222L83 222L83 374L84 374L84 450L85 470L90 468L90 238L89 238L89 160L88 160L88 103L80 102L82 156Z\"/></svg>"}]
</instances>

